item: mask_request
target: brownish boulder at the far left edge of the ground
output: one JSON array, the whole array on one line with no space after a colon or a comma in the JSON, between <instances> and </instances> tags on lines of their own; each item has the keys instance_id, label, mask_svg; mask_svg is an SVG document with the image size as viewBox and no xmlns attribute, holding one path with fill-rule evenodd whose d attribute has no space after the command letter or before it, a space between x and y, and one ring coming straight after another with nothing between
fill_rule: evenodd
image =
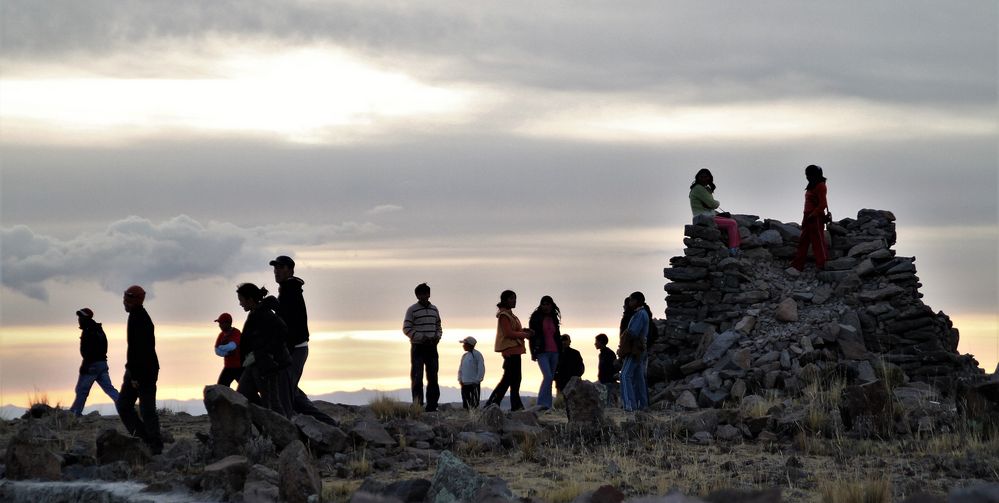
<instances>
[{"instance_id":1,"label":"brownish boulder at the far left edge of the ground","mask_svg":"<svg viewBox=\"0 0 999 503\"><path fill-rule=\"evenodd\" d=\"M59 438L55 432L38 421L29 420L7 445L5 477L11 480L59 480L63 462L59 452Z\"/></svg>"}]
</instances>

